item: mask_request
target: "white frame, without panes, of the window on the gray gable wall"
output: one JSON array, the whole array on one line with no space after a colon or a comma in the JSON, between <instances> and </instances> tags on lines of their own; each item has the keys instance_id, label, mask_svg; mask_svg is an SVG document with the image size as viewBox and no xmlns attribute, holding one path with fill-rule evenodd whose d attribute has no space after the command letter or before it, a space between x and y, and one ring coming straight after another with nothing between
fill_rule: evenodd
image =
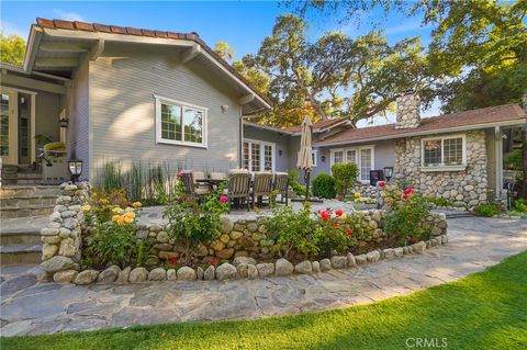
<instances>
[{"instance_id":1,"label":"white frame, without panes, of the window on the gray gable wall","mask_svg":"<svg viewBox=\"0 0 527 350\"><path fill-rule=\"evenodd\" d=\"M195 104L169 99L169 98L164 98L160 95L154 95L156 99L156 144L168 144L168 145L178 145L178 146L187 146L187 147L198 147L198 148L208 148L209 143L208 143L208 135L209 135L209 123L208 123L208 114L209 114L209 109L204 106L199 106ZM202 135L202 143L192 143L192 142L186 142L184 140L184 125L181 123L182 129L181 129L181 138L183 140L177 140L177 139L167 139L162 138L162 133L161 133L161 104L170 104L170 105L177 105L181 108L181 113L184 108L189 108L192 110L198 110L203 113L203 135ZM182 118L181 118L182 121Z\"/></svg>"}]
</instances>

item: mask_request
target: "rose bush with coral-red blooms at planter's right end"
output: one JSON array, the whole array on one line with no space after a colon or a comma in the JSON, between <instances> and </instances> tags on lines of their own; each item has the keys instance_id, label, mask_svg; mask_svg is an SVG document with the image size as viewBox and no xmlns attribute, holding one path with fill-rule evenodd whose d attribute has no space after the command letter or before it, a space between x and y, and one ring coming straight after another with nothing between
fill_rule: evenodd
<instances>
[{"instance_id":1,"label":"rose bush with coral-red blooms at planter's right end","mask_svg":"<svg viewBox=\"0 0 527 350\"><path fill-rule=\"evenodd\" d=\"M414 244L430 237L431 226L428 202L416 195L414 188L404 191L396 185L385 185L381 192L389 211L384 230L400 245Z\"/></svg>"}]
</instances>

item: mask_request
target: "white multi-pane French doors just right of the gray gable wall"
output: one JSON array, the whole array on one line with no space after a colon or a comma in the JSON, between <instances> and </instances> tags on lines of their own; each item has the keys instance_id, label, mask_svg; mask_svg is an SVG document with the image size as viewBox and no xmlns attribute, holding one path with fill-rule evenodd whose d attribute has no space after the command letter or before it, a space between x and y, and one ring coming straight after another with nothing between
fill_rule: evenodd
<instances>
[{"instance_id":1,"label":"white multi-pane French doors just right of the gray gable wall","mask_svg":"<svg viewBox=\"0 0 527 350\"><path fill-rule=\"evenodd\" d=\"M274 171L274 144L244 139L242 167L249 171Z\"/></svg>"}]
</instances>

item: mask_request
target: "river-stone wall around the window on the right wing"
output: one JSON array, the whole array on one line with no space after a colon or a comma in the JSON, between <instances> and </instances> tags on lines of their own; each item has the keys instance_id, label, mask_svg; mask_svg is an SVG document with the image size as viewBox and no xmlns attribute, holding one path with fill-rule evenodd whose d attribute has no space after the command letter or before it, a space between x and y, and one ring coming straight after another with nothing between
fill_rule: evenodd
<instances>
[{"instance_id":1,"label":"river-stone wall around the window on the right wing","mask_svg":"<svg viewBox=\"0 0 527 350\"><path fill-rule=\"evenodd\" d=\"M447 136L449 134L442 134ZM486 202L487 174L484 131L467 134L467 168L461 171L422 171L422 137L395 142L395 179L412 183L422 195L444 197L470 206ZM429 136L427 136L429 137Z\"/></svg>"}]
</instances>

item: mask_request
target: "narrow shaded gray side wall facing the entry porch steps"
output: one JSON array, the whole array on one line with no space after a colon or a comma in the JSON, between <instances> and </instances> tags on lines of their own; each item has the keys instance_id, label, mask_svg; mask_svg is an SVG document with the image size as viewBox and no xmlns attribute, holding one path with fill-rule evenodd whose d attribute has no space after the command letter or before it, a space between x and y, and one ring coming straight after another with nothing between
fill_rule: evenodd
<instances>
[{"instance_id":1,"label":"narrow shaded gray side wall facing the entry porch steps","mask_svg":"<svg viewBox=\"0 0 527 350\"><path fill-rule=\"evenodd\" d=\"M75 156L83 161L83 179L91 176L89 77L89 63L85 61L74 74L71 86L66 91L66 116L69 118L67 144L70 151L75 150Z\"/></svg>"}]
</instances>

